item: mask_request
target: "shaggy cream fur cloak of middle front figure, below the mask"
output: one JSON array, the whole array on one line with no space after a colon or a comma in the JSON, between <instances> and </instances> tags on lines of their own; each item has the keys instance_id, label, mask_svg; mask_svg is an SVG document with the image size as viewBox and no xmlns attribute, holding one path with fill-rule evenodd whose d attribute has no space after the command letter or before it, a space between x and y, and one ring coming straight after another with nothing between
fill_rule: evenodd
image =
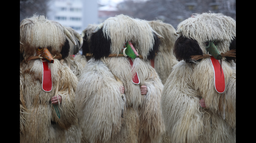
<instances>
[{"instance_id":1,"label":"shaggy cream fur cloak of middle front figure, below the mask","mask_svg":"<svg viewBox=\"0 0 256 143\"><path fill-rule=\"evenodd\" d=\"M160 108L163 85L153 67L137 59L140 84L132 83L131 66L126 57L91 59L86 64L78 83L75 105L80 125L91 143L161 140L165 130ZM122 84L125 87L123 98ZM141 95L143 84L147 86L147 95Z\"/></svg>"}]
</instances>

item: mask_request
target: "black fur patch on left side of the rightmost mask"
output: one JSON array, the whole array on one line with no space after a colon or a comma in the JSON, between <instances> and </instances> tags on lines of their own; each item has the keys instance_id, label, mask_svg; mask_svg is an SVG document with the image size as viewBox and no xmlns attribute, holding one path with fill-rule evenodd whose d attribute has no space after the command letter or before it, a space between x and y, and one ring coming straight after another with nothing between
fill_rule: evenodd
<instances>
[{"instance_id":1,"label":"black fur patch on left side of the rightmost mask","mask_svg":"<svg viewBox=\"0 0 256 143\"><path fill-rule=\"evenodd\" d=\"M191 61L190 56L203 55L203 52L196 40L183 36L179 37L175 41L173 53L178 61L185 60L186 63Z\"/></svg>"}]
</instances>

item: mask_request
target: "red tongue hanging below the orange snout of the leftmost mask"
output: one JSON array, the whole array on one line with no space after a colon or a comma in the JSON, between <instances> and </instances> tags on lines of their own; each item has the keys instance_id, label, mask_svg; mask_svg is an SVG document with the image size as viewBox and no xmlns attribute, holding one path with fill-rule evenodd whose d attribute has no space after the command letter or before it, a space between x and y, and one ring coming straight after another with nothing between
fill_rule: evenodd
<instances>
[{"instance_id":1,"label":"red tongue hanging below the orange snout of the leftmost mask","mask_svg":"<svg viewBox=\"0 0 256 143\"><path fill-rule=\"evenodd\" d=\"M49 92L52 90L53 83L51 81L51 69L48 68L48 62L43 62L43 90Z\"/></svg>"}]
</instances>

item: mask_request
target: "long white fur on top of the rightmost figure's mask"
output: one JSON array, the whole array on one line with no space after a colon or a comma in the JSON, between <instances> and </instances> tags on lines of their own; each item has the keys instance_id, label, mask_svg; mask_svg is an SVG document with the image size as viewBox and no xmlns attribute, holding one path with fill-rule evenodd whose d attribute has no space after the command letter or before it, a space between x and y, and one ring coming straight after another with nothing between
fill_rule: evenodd
<instances>
[{"instance_id":1,"label":"long white fur on top of the rightmost figure's mask","mask_svg":"<svg viewBox=\"0 0 256 143\"><path fill-rule=\"evenodd\" d=\"M177 26L177 31L184 37L197 40L203 53L207 53L205 42L207 40L218 41L219 52L229 51L226 46L236 36L236 21L221 13L194 14L193 17L184 20ZM181 34L178 37L182 36Z\"/></svg>"}]
</instances>

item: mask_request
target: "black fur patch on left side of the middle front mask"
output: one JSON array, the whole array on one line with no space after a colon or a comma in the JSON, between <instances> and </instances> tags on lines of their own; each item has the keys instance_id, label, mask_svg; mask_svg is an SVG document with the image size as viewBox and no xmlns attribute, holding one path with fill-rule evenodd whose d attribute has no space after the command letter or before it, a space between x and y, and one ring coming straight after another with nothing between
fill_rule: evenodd
<instances>
[{"instance_id":1,"label":"black fur patch on left side of the middle front mask","mask_svg":"<svg viewBox=\"0 0 256 143\"><path fill-rule=\"evenodd\" d=\"M109 56L111 39L103 36L102 28L98 32L92 33L89 43L91 48L90 53L93 58L100 59Z\"/></svg>"}]
</instances>

